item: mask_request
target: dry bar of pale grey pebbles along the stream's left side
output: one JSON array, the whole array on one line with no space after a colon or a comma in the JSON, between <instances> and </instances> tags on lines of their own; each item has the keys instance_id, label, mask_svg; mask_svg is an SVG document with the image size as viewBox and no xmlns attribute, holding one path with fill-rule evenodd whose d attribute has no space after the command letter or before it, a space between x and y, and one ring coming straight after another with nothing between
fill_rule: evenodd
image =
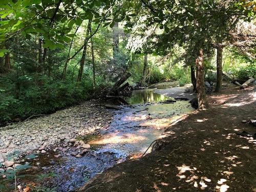
<instances>
[{"instance_id":1,"label":"dry bar of pale grey pebbles along the stream's left side","mask_svg":"<svg viewBox=\"0 0 256 192\"><path fill-rule=\"evenodd\" d=\"M58 143L68 143L72 138L97 134L106 129L112 120L112 111L98 100L86 101L50 116L30 119L15 127L2 127L0 132L0 159L14 151L23 154L48 151ZM42 153L44 153L44 151Z\"/></svg>"}]
</instances>

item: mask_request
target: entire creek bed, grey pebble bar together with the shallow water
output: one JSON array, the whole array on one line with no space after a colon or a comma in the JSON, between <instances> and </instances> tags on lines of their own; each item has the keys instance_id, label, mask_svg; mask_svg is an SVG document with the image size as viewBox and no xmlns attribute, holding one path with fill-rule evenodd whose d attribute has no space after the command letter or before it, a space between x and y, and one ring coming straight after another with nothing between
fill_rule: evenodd
<instances>
[{"instance_id":1,"label":"entire creek bed, grey pebble bar together with the shallow water","mask_svg":"<svg viewBox=\"0 0 256 192\"><path fill-rule=\"evenodd\" d=\"M20 191L34 185L73 191L116 163L141 157L170 123L193 111L188 101L159 102L167 98L152 90L139 91L128 99L137 104L121 110L108 110L103 103L95 104L98 100L91 100L50 116L2 127L2 172L29 163L30 168L20 173L26 177L18 179ZM23 154L20 159L7 160L6 156L16 150ZM24 158L31 153L35 154L33 159ZM34 177L51 173L57 177L40 181Z\"/></svg>"}]
</instances>

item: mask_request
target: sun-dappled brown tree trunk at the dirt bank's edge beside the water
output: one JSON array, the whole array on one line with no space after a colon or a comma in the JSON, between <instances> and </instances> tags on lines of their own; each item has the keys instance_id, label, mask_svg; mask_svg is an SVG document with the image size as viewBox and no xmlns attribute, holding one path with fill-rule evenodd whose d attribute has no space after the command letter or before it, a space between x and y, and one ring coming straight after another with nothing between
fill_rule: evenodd
<instances>
[{"instance_id":1,"label":"sun-dappled brown tree trunk at the dirt bank's edge beside the water","mask_svg":"<svg viewBox=\"0 0 256 192\"><path fill-rule=\"evenodd\" d=\"M197 97L198 107L201 110L206 108L206 96L204 87L204 66L203 66L203 49L200 48L196 56L196 70L197 70Z\"/></svg>"}]
</instances>

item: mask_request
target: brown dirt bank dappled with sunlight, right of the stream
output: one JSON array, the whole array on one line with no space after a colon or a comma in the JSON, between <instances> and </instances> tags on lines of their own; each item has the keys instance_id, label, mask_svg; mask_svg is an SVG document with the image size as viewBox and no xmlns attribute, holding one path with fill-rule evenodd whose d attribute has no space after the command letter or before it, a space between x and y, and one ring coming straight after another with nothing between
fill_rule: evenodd
<instances>
[{"instance_id":1,"label":"brown dirt bank dappled with sunlight, right of the stream","mask_svg":"<svg viewBox=\"0 0 256 192\"><path fill-rule=\"evenodd\" d=\"M225 84L209 108L168 127L156 152L97 175L80 191L256 191L256 92ZM161 144L161 145L160 145Z\"/></svg>"}]
</instances>

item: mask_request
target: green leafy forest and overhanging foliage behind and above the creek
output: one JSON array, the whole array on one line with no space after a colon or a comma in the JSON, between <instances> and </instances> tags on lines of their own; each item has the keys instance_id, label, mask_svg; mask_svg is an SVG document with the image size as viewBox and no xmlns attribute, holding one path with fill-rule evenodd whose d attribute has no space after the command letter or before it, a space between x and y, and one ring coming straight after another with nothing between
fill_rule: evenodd
<instances>
[{"instance_id":1,"label":"green leafy forest and overhanging foliage behind and above the creek","mask_svg":"<svg viewBox=\"0 0 256 192\"><path fill-rule=\"evenodd\" d=\"M218 45L225 72L255 77L255 1L179 2L1 1L0 122L100 97L128 72L133 88L183 86L198 41L207 81L216 82Z\"/></svg>"}]
</instances>

